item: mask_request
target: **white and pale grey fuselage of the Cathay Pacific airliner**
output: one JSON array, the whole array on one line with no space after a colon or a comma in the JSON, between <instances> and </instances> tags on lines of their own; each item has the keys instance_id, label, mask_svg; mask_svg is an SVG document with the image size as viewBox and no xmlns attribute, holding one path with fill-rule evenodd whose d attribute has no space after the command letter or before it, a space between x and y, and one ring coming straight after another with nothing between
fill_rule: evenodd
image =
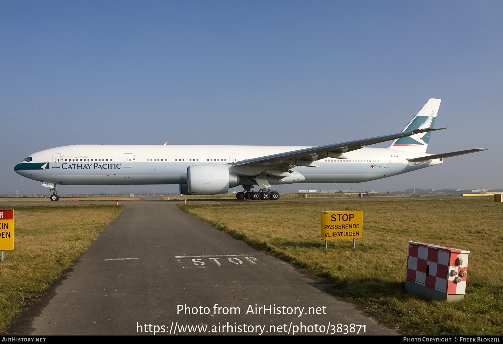
<instances>
[{"instance_id":1,"label":"white and pale grey fuselage of the Cathay Pacific airliner","mask_svg":"<svg viewBox=\"0 0 503 344\"><path fill-rule=\"evenodd\" d=\"M303 148L307 147L72 145L33 153L30 155L31 161L20 162L14 169L23 177L56 185L187 184L188 166L231 164ZM293 167L291 177L268 175L268 181L271 185L361 183L442 162L441 159L434 159L412 163L406 158L429 154L390 148L363 147L345 155L346 159L324 158L314 161L319 167ZM257 167L231 166L229 169L243 177L261 173Z\"/></svg>"}]
</instances>

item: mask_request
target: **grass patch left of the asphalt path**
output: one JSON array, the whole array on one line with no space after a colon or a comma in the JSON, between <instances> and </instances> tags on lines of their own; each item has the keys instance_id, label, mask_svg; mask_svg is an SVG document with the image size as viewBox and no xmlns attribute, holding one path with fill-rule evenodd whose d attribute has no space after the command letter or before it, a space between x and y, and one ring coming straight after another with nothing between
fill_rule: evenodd
<instances>
[{"instance_id":1,"label":"grass patch left of the asphalt path","mask_svg":"<svg viewBox=\"0 0 503 344\"><path fill-rule=\"evenodd\" d=\"M116 218L122 206L9 206L14 250L0 262L0 333Z\"/></svg>"}]
</instances>

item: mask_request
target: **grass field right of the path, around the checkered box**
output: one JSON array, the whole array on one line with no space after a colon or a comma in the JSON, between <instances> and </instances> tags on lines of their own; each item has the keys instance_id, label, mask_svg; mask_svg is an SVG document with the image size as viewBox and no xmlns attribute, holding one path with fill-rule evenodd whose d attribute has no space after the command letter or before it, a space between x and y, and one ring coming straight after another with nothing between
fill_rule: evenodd
<instances>
[{"instance_id":1,"label":"grass field right of the path, around the checkered box","mask_svg":"<svg viewBox=\"0 0 503 344\"><path fill-rule=\"evenodd\" d=\"M407 334L503 334L503 209L492 198L180 205L270 254L333 281L333 293ZM320 240L320 212L363 210L363 238ZM407 240L470 250L465 300L404 291Z\"/></svg>"}]
</instances>

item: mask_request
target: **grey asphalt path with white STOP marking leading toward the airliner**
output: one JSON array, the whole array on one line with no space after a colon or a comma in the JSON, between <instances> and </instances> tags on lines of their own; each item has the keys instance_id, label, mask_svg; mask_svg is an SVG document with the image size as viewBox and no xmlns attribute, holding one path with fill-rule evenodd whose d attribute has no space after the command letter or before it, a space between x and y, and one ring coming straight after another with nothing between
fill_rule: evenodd
<instances>
[{"instance_id":1,"label":"grey asphalt path with white STOP marking leading toward the airliner","mask_svg":"<svg viewBox=\"0 0 503 344\"><path fill-rule=\"evenodd\" d=\"M329 284L193 218L177 203L127 202L8 333L398 334L327 293Z\"/></svg>"}]
</instances>

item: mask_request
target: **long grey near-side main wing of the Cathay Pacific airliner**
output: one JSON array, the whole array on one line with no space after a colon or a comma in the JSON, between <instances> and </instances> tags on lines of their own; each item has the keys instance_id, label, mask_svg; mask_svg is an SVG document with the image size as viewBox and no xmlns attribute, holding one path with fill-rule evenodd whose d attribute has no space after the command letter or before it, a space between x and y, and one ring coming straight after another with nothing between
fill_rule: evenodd
<instances>
[{"instance_id":1,"label":"long grey near-side main wing of the Cathay Pacific airliner","mask_svg":"<svg viewBox=\"0 0 503 344\"><path fill-rule=\"evenodd\" d=\"M266 167L275 168L281 165L295 165L295 166L312 166L318 167L313 161L324 159L326 157L345 159L344 153L363 148L375 143L386 142L401 137L406 137L414 134L419 134L428 131L442 130L448 128L425 128L416 129L407 132L376 136L368 139L348 141L336 144L329 144L324 146L316 146L293 150L279 154L261 156L253 159L246 159L234 162L234 166L250 166L250 167Z\"/></svg>"}]
</instances>

